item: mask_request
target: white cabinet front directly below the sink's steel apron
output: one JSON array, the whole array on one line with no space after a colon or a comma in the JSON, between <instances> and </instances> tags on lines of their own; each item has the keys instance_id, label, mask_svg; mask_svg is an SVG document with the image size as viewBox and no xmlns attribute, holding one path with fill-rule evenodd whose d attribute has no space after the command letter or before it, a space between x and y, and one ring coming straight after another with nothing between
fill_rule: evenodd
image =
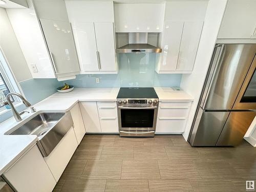
<instances>
[{"instance_id":1,"label":"white cabinet front directly below the sink's steel apron","mask_svg":"<svg viewBox=\"0 0 256 192\"><path fill-rule=\"evenodd\" d=\"M55 146L51 154L44 158L56 181L59 180L77 146L75 132L73 127L71 127L57 146Z\"/></svg>"}]
</instances>

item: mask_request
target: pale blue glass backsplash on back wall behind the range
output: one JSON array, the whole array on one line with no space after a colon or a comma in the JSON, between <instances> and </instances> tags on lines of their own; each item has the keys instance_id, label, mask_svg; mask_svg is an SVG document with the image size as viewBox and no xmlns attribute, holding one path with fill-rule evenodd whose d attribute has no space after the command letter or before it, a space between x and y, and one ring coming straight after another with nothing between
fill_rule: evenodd
<instances>
[{"instance_id":1,"label":"pale blue glass backsplash on back wall behind the range","mask_svg":"<svg viewBox=\"0 0 256 192\"><path fill-rule=\"evenodd\" d=\"M180 86L181 74L155 72L158 57L157 53L119 53L118 74L83 74L65 82L78 88ZM99 78L100 83L96 83L95 78Z\"/></svg>"}]
</instances>

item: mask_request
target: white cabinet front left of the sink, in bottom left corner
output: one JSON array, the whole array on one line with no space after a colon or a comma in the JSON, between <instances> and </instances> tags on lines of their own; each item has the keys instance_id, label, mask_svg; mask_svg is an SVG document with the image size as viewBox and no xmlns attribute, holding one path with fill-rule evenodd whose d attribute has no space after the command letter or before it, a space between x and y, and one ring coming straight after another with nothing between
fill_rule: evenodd
<instances>
[{"instance_id":1,"label":"white cabinet front left of the sink, in bottom left corner","mask_svg":"<svg viewBox=\"0 0 256 192\"><path fill-rule=\"evenodd\" d=\"M17 160L4 176L19 192L52 191L56 185L37 145Z\"/></svg>"}]
</instances>

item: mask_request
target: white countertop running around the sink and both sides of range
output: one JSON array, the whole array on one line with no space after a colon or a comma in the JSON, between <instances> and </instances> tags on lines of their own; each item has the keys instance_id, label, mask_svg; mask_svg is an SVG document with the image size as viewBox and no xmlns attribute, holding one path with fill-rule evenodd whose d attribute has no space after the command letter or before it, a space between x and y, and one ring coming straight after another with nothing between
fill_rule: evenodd
<instances>
[{"instance_id":1,"label":"white countertop running around the sink and both sides of range","mask_svg":"<svg viewBox=\"0 0 256 192\"><path fill-rule=\"evenodd\" d=\"M116 101L120 88L75 88L69 93L54 93L34 105L40 111L69 111L78 101ZM172 88L155 88L159 101L191 101L193 98L183 91ZM16 122L12 117L0 124L0 175L36 143L35 135L4 135L10 129L20 126L34 114L22 115L23 120Z\"/></svg>"}]
</instances>

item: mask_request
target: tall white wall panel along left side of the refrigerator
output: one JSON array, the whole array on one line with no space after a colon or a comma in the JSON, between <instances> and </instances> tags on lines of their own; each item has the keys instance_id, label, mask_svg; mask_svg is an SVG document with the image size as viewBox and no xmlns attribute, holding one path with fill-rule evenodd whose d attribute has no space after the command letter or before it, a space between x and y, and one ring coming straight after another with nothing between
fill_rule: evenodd
<instances>
[{"instance_id":1,"label":"tall white wall panel along left side of the refrigerator","mask_svg":"<svg viewBox=\"0 0 256 192\"><path fill-rule=\"evenodd\" d=\"M180 87L194 97L185 132L183 133L183 137L186 140L188 139L191 124L197 109L197 104L210 63L211 54L215 47L226 4L227 0L210 0L208 2L193 73L183 74L181 78Z\"/></svg>"}]
</instances>

